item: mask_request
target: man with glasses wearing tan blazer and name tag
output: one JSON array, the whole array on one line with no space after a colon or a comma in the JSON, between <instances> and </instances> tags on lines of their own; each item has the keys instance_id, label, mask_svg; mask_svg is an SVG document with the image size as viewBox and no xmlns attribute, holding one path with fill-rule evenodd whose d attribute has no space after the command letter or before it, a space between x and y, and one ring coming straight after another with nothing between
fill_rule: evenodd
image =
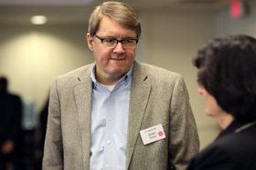
<instances>
[{"instance_id":1,"label":"man with glasses wearing tan blazer and name tag","mask_svg":"<svg viewBox=\"0 0 256 170\"><path fill-rule=\"evenodd\" d=\"M180 75L134 61L141 25L105 2L91 14L95 64L56 78L43 169L185 169L197 126Z\"/></svg>"}]
</instances>

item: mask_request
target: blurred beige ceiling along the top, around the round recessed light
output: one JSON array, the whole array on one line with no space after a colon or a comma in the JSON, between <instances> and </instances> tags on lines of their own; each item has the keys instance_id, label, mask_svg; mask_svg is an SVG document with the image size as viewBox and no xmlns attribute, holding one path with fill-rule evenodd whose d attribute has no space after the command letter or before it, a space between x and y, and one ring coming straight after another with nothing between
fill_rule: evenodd
<instances>
[{"instance_id":1,"label":"blurred beige ceiling along the top, around the round recessed light","mask_svg":"<svg viewBox=\"0 0 256 170\"><path fill-rule=\"evenodd\" d=\"M135 10L207 9L231 0L123 0ZM30 25L32 15L47 15L48 25L84 25L103 0L0 0L0 25Z\"/></svg>"}]
</instances>

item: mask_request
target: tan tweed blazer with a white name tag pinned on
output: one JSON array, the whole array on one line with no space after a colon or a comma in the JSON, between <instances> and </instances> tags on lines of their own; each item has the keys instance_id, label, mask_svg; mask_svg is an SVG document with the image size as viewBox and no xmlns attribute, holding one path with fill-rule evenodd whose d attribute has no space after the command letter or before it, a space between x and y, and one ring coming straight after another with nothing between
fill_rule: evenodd
<instances>
[{"instance_id":1,"label":"tan tweed blazer with a white name tag pinned on","mask_svg":"<svg viewBox=\"0 0 256 170\"><path fill-rule=\"evenodd\" d=\"M57 77L51 86L44 170L89 170L91 67ZM162 124L165 139L144 145L140 130ZM198 152L197 126L181 75L134 62L127 135L129 170L185 169Z\"/></svg>"}]
</instances>

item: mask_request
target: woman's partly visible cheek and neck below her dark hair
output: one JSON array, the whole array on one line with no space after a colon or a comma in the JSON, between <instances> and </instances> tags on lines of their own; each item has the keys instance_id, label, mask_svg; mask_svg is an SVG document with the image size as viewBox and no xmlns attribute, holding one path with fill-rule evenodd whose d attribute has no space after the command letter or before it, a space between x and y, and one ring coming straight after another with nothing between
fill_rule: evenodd
<instances>
[{"instance_id":1,"label":"woman's partly visible cheek and neck below her dark hair","mask_svg":"<svg viewBox=\"0 0 256 170\"><path fill-rule=\"evenodd\" d=\"M217 117L218 115L226 114L226 112L218 105L215 97L210 95L203 85L199 86L197 92L205 98L206 115Z\"/></svg>"}]
</instances>

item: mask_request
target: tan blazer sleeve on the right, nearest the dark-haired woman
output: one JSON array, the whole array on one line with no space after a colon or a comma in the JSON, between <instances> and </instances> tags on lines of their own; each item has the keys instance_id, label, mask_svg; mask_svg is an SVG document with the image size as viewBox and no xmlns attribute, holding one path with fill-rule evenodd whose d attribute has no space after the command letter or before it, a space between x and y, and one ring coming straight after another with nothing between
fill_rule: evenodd
<instances>
[{"instance_id":1,"label":"tan blazer sleeve on the right, nearest the dark-haired woman","mask_svg":"<svg viewBox=\"0 0 256 170\"><path fill-rule=\"evenodd\" d=\"M190 159L198 153L199 139L187 87L182 76L176 79L170 107L170 163L176 169L186 169Z\"/></svg>"}]
</instances>

